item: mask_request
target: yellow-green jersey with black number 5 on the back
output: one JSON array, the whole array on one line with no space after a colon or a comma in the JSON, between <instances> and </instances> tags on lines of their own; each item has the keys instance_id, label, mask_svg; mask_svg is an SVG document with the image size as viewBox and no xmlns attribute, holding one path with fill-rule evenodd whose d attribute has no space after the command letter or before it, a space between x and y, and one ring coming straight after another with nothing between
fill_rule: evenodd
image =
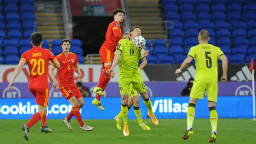
<instances>
[{"instance_id":1,"label":"yellow-green jersey with black number 5 on the back","mask_svg":"<svg viewBox=\"0 0 256 144\"><path fill-rule=\"evenodd\" d=\"M188 56L196 60L195 80L218 81L218 59L222 54L220 48L212 44L198 44L190 48Z\"/></svg>"}]
</instances>

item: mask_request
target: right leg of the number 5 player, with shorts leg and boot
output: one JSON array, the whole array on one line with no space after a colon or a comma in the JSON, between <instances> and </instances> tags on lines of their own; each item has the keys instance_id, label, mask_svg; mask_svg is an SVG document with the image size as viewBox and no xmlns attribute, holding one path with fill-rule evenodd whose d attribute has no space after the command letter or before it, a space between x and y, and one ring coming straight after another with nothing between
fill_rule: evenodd
<instances>
[{"instance_id":1,"label":"right leg of the number 5 player, with shorts leg and boot","mask_svg":"<svg viewBox=\"0 0 256 144\"><path fill-rule=\"evenodd\" d=\"M209 81L206 85L206 94L208 97L208 106L210 110L210 122L212 134L209 142L215 142L217 136L218 114L216 111L216 102L218 97L218 82Z\"/></svg>"}]
</instances>

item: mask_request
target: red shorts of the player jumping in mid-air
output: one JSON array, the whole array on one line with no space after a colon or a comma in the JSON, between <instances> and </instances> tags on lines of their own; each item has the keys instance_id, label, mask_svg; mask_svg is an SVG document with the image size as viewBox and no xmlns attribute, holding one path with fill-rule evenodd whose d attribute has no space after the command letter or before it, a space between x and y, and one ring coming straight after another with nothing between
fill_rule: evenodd
<instances>
[{"instance_id":1,"label":"red shorts of the player jumping in mid-air","mask_svg":"<svg viewBox=\"0 0 256 144\"><path fill-rule=\"evenodd\" d=\"M102 62L102 68L104 69L104 63L112 63L113 59L114 59L114 52L112 50L110 50L108 47L106 46L102 46L100 48L100 58L101 58L101 62Z\"/></svg>"}]
</instances>

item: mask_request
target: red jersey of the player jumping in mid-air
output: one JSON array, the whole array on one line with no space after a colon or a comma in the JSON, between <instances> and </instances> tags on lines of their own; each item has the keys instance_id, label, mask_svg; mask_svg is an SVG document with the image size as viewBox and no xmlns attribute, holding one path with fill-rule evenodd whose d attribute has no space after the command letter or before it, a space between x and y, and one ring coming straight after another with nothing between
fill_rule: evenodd
<instances>
[{"instance_id":1,"label":"red jersey of the player jumping in mid-air","mask_svg":"<svg viewBox=\"0 0 256 144\"><path fill-rule=\"evenodd\" d=\"M120 23L114 20L108 26L108 30L106 33L106 40L102 44L102 47L106 46L110 50L115 52L116 45L119 42L119 40L121 40L121 39L122 39L122 30L120 27Z\"/></svg>"}]
</instances>

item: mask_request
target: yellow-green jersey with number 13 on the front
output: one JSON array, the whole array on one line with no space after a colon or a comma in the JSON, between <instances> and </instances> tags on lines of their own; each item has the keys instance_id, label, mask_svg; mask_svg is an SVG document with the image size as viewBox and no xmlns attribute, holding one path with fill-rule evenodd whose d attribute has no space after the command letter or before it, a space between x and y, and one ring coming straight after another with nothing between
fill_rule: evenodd
<instances>
[{"instance_id":1,"label":"yellow-green jersey with number 13 on the front","mask_svg":"<svg viewBox=\"0 0 256 144\"><path fill-rule=\"evenodd\" d=\"M116 49L121 51L119 59L119 73L140 72L138 63L141 58L140 50L128 38L121 39L116 45Z\"/></svg>"}]
</instances>

